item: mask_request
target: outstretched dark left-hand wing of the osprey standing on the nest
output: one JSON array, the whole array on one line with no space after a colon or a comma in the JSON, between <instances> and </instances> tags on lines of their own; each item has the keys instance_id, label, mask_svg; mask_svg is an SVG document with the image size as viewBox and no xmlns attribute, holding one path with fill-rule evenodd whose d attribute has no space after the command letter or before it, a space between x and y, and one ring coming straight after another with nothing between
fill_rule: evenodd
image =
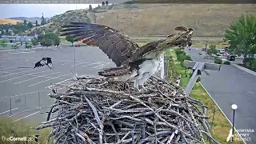
<instances>
[{"instance_id":1,"label":"outstretched dark left-hand wing of the osprey standing on the nest","mask_svg":"<svg viewBox=\"0 0 256 144\"><path fill-rule=\"evenodd\" d=\"M62 26L61 36L71 35L76 41L82 40L89 46L98 46L116 66L126 65L139 46L127 35L108 26L71 22Z\"/></svg>"}]
</instances>

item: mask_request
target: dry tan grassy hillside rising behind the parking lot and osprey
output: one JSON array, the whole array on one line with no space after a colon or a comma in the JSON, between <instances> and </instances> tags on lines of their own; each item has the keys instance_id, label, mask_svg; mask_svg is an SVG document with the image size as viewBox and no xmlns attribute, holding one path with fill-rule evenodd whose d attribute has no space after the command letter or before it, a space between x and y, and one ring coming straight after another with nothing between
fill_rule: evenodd
<instances>
[{"instance_id":1,"label":"dry tan grassy hillside rising behind the parking lot and osprey","mask_svg":"<svg viewBox=\"0 0 256 144\"><path fill-rule=\"evenodd\" d=\"M100 11L101 10L101 11ZM241 14L256 14L254 4L118 4L95 10L70 10L55 16L42 30L58 31L69 22L96 22L121 30L127 35L166 35L175 26L195 30L195 36L222 37L224 30Z\"/></svg>"}]
</instances>

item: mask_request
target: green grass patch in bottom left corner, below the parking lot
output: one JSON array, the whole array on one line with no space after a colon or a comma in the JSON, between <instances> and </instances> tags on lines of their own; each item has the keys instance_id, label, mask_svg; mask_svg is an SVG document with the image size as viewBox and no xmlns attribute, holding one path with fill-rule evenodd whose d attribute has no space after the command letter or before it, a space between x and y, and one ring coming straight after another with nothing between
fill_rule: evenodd
<instances>
[{"instance_id":1,"label":"green grass patch in bottom left corner, below the parking lot","mask_svg":"<svg viewBox=\"0 0 256 144\"><path fill-rule=\"evenodd\" d=\"M31 127L38 126L37 123L28 123L25 121L13 122L13 118L1 117L0 118L0 136L5 138L22 138L22 137L33 137L34 134L40 134L38 137L38 144L46 143L47 136L50 134L50 128L44 130L33 130ZM1 144L24 144L24 142L7 142L0 138ZM34 144L35 142L28 142L26 144ZM50 139L50 143L53 143L53 139Z\"/></svg>"}]
</instances>

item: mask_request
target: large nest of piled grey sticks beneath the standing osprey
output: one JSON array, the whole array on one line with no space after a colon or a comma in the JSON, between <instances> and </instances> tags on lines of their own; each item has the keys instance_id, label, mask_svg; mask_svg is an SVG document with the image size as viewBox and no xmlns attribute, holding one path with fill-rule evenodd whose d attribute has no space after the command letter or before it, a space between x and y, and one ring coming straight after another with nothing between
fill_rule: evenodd
<instances>
[{"instance_id":1,"label":"large nest of piled grey sticks beneath the standing osprey","mask_svg":"<svg viewBox=\"0 0 256 144\"><path fill-rule=\"evenodd\" d=\"M174 83L151 77L141 93L133 82L78 78L56 98L46 122L54 143L219 143L210 134L206 106Z\"/></svg>"}]
</instances>

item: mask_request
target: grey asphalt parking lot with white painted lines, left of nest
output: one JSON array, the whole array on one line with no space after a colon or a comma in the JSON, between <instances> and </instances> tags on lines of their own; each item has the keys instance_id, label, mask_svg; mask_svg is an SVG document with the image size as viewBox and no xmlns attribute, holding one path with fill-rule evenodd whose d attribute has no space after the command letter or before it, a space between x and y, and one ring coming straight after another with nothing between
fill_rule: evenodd
<instances>
[{"instance_id":1,"label":"grey asphalt parking lot with white painted lines, left of nest","mask_svg":"<svg viewBox=\"0 0 256 144\"><path fill-rule=\"evenodd\" d=\"M47 66L33 69L43 57L52 58L52 70ZM26 118L42 122L46 120L46 114L42 113L54 102L47 96L52 93L54 83L64 86L74 83L74 74L70 70L75 70L78 75L97 76L98 70L110 66L115 66L114 62L98 47L58 46L47 50L35 47L0 51L0 116L12 115L16 121Z\"/></svg>"}]
</instances>

